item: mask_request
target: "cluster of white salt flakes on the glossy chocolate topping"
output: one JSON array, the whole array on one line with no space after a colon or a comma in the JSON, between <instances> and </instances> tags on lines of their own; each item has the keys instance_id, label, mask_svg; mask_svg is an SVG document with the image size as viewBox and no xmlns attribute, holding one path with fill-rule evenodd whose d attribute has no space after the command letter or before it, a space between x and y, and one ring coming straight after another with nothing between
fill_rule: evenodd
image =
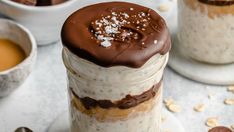
<instances>
[{"instance_id":1,"label":"cluster of white salt flakes on the glossy chocolate topping","mask_svg":"<svg viewBox=\"0 0 234 132\"><path fill-rule=\"evenodd\" d=\"M134 8L129 8L134 10ZM133 18L129 21L129 18ZM99 20L92 22L93 29L91 32L94 33L100 46L109 47L112 45L112 41L130 41L131 39L138 39L138 33L133 33L132 29L125 30L122 28L125 24L137 23L137 30L145 31L147 29L148 23L148 13L138 12L137 14L127 14L126 12L111 12L110 15L104 16ZM145 43L143 42L142 45Z\"/></svg>"}]
</instances>

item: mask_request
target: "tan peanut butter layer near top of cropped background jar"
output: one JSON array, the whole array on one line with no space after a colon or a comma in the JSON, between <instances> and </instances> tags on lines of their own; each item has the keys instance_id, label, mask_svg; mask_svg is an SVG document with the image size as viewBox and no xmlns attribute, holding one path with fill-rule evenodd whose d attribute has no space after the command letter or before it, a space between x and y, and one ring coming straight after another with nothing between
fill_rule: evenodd
<instances>
[{"instance_id":1,"label":"tan peanut butter layer near top of cropped background jar","mask_svg":"<svg viewBox=\"0 0 234 132\"><path fill-rule=\"evenodd\" d=\"M234 1L220 2L218 0L206 2L205 0L183 0L185 4L193 10L200 10L202 13L214 19L223 15L234 15Z\"/></svg>"}]
</instances>

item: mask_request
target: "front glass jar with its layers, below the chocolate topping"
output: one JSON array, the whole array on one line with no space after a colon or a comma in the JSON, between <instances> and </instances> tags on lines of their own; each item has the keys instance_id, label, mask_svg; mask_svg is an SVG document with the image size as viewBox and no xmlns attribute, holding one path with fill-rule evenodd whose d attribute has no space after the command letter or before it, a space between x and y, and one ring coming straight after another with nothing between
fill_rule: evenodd
<instances>
[{"instance_id":1,"label":"front glass jar with its layers, below the chocolate topping","mask_svg":"<svg viewBox=\"0 0 234 132\"><path fill-rule=\"evenodd\" d=\"M101 67L66 47L71 132L159 132L168 54L141 68Z\"/></svg>"}]
</instances>

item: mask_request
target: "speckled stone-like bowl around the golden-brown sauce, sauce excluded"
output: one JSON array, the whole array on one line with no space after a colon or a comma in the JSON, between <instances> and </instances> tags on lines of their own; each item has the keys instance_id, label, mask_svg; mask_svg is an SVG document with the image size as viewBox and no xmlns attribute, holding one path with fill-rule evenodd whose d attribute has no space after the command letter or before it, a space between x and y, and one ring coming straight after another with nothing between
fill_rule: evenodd
<instances>
[{"instance_id":1,"label":"speckled stone-like bowl around the golden-brown sauce, sauce excluded","mask_svg":"<svg viewBox=\"0 0 234 132\"><path fill-rule=\"evenodd\" d=\"M0 97L4 97L18 88L31 73L36 62L37 45L33 35L26 28L6 19L0 19L0 38L16 42L27 55L15 67L0 72Z\"/></svg>"}]
</instances>

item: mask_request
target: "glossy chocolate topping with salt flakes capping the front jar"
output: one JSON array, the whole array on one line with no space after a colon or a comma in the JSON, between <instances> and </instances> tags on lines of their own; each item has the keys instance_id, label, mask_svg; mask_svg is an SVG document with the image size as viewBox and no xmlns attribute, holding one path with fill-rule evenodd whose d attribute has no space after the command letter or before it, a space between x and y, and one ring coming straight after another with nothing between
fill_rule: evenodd
<instances>
[{"instance_id":1,"label":"glossy chocolate topping with salt flakes capping the front jar","mask_svg":"<svg viewBox=\"0 0 234 132\"><path fill-rule=\"evenodd\" d=\"M77 56L104 67L141 67L171 47L165 21L132 3L108 2L73 13L62 28L62 42Z\"/></svg>"}]
</instances>

